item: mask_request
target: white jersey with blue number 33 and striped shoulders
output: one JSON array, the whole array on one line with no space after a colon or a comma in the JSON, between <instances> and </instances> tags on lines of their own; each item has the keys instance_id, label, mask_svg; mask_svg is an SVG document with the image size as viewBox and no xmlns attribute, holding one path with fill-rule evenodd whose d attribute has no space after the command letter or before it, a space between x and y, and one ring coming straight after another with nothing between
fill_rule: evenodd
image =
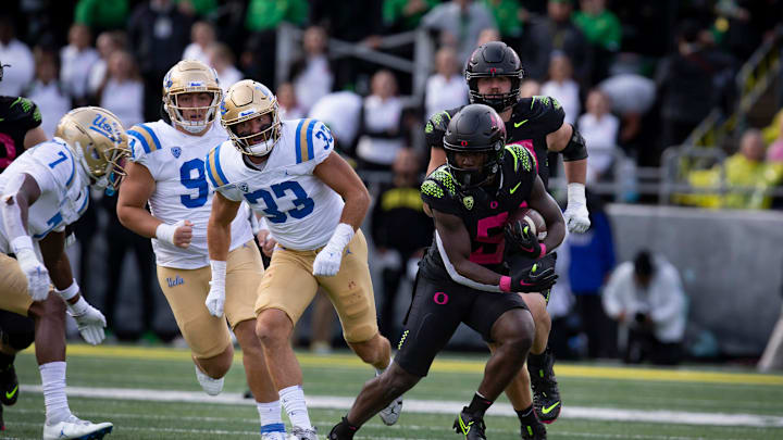
<instances>
[{"instance_id":1,"label":"white jersey with blue number 33 and striped shoulders","mask_svg":"<svg viewBox=\"0 0 783 440\"><path fill-rule=\"evenodd\" d=\"M345 204L313 175L332 151L332 133L320 121L284 121L263 169L248 166L243 153L226 141L207 156L207 176L226 199L246 201L264 216L281 246L313 250L330 240Z\"/></svg>"}]
</instances>

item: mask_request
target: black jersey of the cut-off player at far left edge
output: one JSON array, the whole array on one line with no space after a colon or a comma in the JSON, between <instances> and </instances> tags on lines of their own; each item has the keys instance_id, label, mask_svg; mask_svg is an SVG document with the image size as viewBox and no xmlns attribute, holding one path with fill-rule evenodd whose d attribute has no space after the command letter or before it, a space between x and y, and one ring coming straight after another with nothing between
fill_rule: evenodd
<instances>
[{"instance_id":1,"label":"black jersey of the cut-off player at far left edge","mask_svg":"<svg viewBox=\"0 0 783 440\"><path fill-rule=\"evenodd\" d=\"M27 131L40 126L38 105L21 97L0 97L0 173L25 150Z\"/></svg>"}]
</instances>

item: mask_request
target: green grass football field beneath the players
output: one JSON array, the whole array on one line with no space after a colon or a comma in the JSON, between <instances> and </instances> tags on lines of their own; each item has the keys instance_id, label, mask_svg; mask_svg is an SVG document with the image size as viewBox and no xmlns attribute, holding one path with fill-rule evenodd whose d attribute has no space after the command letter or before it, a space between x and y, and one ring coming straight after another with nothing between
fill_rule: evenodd
<instances>
[{"instance_id":1,"label":"green grass football field beneath the players","mask_svg":"<svg viewBox=\"0 0 783 440\"><path fill-rule=\"evenodd\" d=\"M471 399L486 356L444 354L430 377L406 394L399 423L373 418L357 439L453 439L456 412ZM323 436L345 415L371 368L349 353L299 353L310 416ZM2 438L39 439L44 423L40 378L30 350L20 354L18 402L5 407ZM742 368L626 368L556 365L563 413L549 439L772 440L783 439L783 375ZM258 413L243 400L236 357L224 392L204 394L185 350L142 347L69 347L71 408L94 422L113 422L107 439L258 438ZM489 439L519 439L508 401L486 417Z\"/></svg>"}]
</instances>

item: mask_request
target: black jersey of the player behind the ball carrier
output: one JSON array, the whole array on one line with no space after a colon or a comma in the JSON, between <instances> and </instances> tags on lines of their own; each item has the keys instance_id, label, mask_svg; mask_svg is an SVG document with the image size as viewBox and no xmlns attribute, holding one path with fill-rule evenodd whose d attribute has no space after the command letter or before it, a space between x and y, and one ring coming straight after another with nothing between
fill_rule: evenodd
<instances>
[{"instance_id":1,"label":"black jersey of the player behind the ball carrier","mask_svg":"<svg viewBox=\"0 0 783 440\"><path fill-rule=\"evenodd\" d=\"M511 117L506 123L507 144L525 147L533 152L537 171L544 187L549 190L549 164L546 137L557 131L563 124L566 112L560 102L551 97L522 98L512 108ZM443 149L443 137L451 117L462 110L444 110L435 113L424 127L427 147Z\"/></svg>"}]
</instances>

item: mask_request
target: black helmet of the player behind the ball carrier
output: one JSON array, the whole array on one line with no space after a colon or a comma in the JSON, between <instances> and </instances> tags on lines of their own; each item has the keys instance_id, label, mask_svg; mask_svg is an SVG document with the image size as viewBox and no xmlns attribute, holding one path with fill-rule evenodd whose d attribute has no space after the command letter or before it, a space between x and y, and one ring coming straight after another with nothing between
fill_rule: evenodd
<instances>
[{"instance_id":1,"label":"black helmet of the player behind the ball carrier","mask_svg":"<svg viewBox=\"0 0 783 440\"><path fill-rule=\"evenodd\" d=\"M511 90L500 95L478 93L478 78L507 76ZM474 104L486 104L498 113L509 109L519 100L519 89L524 77L522 63L513 49L502 41L489 41L473 51L465 66L465 80L470 88L470 100Z\"/></svg>"}]
</instances>

